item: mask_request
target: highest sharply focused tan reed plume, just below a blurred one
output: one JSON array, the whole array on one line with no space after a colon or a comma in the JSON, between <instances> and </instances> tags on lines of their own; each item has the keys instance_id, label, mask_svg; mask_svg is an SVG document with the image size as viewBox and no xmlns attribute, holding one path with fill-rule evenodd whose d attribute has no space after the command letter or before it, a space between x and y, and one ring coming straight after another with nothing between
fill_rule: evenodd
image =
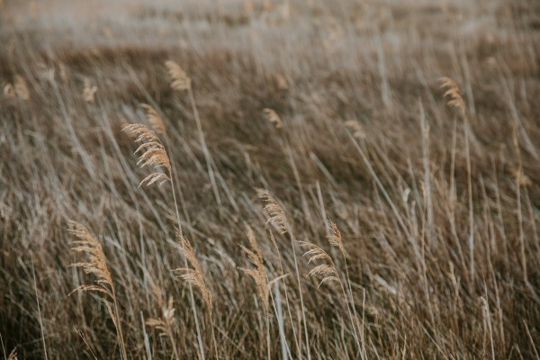
<instances>
[{"instance_id":1,"label":"highest sharply focused tan reed plume, just below a blurred one","mask_svg":"<svg viewBox=\"0 0 540 360\"><path fill-rule=\"evenodd\" d=\"M142 155L139 156L139 161L137 162L139 167L154 166L157 168L161 166L165 167L168 172L168 174L161 172L152 173L142 179L139 186L145 183L147 186L149 186L154 183L163 184L170 181L171 162L166 154L165 147L157 137L156 133L148 129L146 125L139 123L130 124L123 128L122 131L126 131L130 135L137 137L135 142L140 143L140 146L137 148L137 150L135 150L135 153L144 150Z\"/></svg>"}]
</instances>

